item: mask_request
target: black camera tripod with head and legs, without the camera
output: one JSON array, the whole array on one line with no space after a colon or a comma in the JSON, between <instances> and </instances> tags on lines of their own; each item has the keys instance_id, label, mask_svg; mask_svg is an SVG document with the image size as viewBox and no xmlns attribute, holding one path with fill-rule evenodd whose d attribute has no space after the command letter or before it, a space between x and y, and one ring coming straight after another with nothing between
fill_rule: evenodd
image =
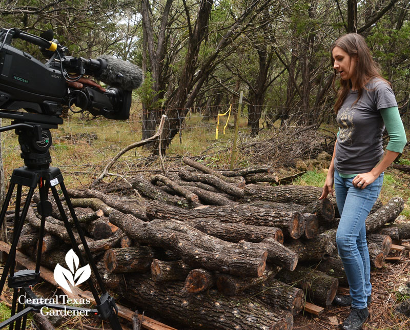
<instances>
[{"instance_id":1,"label":"black camera tripod with head and legs, without the camera","mask_svg":"<svg viewBox=\"0 0 410 330\"><path fill-rule=\"evenodd\" d=\"M14 169L13 174L10 178L10 187L8 189L2 210L0 212L0 219L3 220L5 218L11 197L13 195L13 191L17 186L13 241L9 256L4 266L3 274L0 278L0 293L3 292L7 277L9 279L8 286L10 288L13 288L11 317L0 323L0 329L4 328L7 325L9 325L9 330L13 330L13 326L15 330L25 329L28 313L40 313L43 307L47 307L56 310L76 312L84 311L87 315L98 315L101 319L109 321L111 327L114 330L121 330L121 325L117 318L118 308L115 304L114 298L111 297L105 290L103 280L98 274L97 267L88 248L85 235L83 233L83 230L81 230L80 228L73 205L70 201L67 189L65 187L63 175L58 168L50 167L51 156L49 153L49 148L52 145L50 129L57 128L59 124L63 123L63 119L55 116L12 111L0 111L0 117L14 119L12 125L0 128L0 132L15 129L15 133L18 135L20 149L22 150L21 156L24 159L25 163L24 167ZM57 185L59 185L61 192L63 192L63 196L66 200L70 215L73 219L75 229L77 230L81 243L84 246L84 251L91 266L91 270L95 275L98 286L100 287L100 291L102 291L102 295L100 297L91 278L87 280L90 291L96 302L96 309L68 306L63 304L50 304L47 303L47 300L37 298L31 290L31 286L39 282L45 221L46 217L50 216L52 213L52 204L48 200L49 190L51 190L60 216L64 221L65 228L70 237L72 249L77 255L80 265L83 267L86 266L84 258L78 249L78 245L68 221L68 217L65 214L63 204L60 201L56 189ZM29 191L20 216L20 202L22 200L23 186L28 187ZM41 216L36 266L35 270L22 270L15 272L14 267L17 243L22 232L23 225L26 220L26 216L36 187L38 187L40 196L40 201L37 203L37 212ZM22 296L26 297L24 302L21 302L18 298ZM29 299L27 299L27 297Z\"/></svg>"}]
</instances>

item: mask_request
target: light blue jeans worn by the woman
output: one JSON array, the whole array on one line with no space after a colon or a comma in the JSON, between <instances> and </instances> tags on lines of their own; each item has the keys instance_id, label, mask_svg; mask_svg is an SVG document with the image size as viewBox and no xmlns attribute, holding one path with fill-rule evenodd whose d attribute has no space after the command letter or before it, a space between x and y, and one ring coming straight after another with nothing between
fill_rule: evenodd
<instances>
[{"instance_id":1,"label":"light blue jeans worn by the woman","mask_svg":"<svg viewBox=\"0 0 410 330\"><path fill-rule=\"evenodd\" d=\"M364 220L380 194L383 176L382 173L372 184L360 189L353 185L354 178L342 178L335 169L335 193L340 213L336 243L354 308L365 308L367 296L372 294Z\"/></svg>"}]
</instances>

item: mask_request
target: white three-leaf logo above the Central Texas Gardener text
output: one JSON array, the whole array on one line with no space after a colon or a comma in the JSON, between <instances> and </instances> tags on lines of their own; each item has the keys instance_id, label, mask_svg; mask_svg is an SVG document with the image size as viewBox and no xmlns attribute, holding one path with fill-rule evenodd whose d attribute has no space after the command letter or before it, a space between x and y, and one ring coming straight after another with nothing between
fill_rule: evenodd
<instances>
[{"instance_id":1,"label":"white three-leaf logo above the Central Texas Gardener text","mask_svg":"<svg viewBox=\"0 0 410 330\"><path fill-rule=\"evenodd\" d=\"M87 281L91 276L91 268L89 264L78 268L79 259L73 249L67 252L66 263L69 270L57 263L54 269L54 279L58 285L72 293L70 284L76 286Z\"/></svg>"}]
</instances>

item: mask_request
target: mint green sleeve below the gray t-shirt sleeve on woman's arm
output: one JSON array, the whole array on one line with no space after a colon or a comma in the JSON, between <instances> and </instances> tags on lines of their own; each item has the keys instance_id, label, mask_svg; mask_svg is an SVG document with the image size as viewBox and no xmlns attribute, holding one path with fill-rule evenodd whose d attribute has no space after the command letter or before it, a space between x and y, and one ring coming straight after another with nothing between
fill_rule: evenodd
<instances>
[{"instance_id":1,"label":"mint green sleeve below the gray t-shirt sleeve on woman's arm","mask_svg":"<svg viewBox=\"0 0 410 330\"><path fill-rule=\"evenodd\" d=\"M389 137L386 149L394 152L403 152L407 140L399 109L397 107L380 109L380 114Z\"/></svg>"}]
</instances>

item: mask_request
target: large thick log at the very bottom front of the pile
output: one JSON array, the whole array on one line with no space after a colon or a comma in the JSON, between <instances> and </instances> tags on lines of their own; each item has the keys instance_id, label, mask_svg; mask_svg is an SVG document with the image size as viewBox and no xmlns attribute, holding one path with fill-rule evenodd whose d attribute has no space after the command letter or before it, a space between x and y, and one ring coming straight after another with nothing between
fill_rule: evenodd
<instances>
[{"instance_id":1,"label":"large thick log at the very bottom front of the pile","mask_svg":"<svg viewBox=\"0 0 410 330\"><path fill-rule=\"evenodd\" d=\"M252 300L242 301L240 297L224 297L216 290L186 294L182 290L183 282L156 284L144 275L126 275L126 282L129 299L146 310L190 327L207 330L290 330L293 326L293 317L289 312L263 303L256 305Z\"/></svg>"}]
</instances>

